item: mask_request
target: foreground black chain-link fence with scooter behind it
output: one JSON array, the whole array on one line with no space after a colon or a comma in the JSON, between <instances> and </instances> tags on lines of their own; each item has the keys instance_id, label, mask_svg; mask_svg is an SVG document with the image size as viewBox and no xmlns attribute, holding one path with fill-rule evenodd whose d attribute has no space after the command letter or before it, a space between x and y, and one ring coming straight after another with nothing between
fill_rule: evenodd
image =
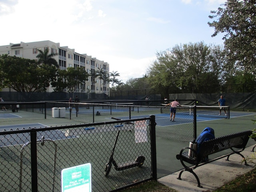
<instances>
[{"instance_id":1,"label":"foreground black chain-link fence with scooter behind it","mask_svg":"<svg viewBox=\"0 0 256 192\"><path fill-rule=\"evenodd\" d=\"M91 164L92 191L156 179L155 117L0 132L0 191L60 192L61 172Z\"/></svg>"}]
</instances>

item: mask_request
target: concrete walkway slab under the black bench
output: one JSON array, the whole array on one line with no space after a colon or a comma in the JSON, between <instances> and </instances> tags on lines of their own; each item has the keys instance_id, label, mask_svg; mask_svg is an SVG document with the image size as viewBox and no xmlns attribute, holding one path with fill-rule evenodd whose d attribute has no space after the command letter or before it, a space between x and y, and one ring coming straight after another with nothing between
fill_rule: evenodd
<instances>
[{"instance_id":1,"label":"concrete walkway slab under the black bench","mask_svg":"<svg viewBox=\"0 0 256 192\"><path fill-rule=\"evenodd\" d=\"M253 154L252 148L253 146L245 148L241 154L250 157ZM194 170L203 188L197 186L196 178L188 171L182 173L182 180L177 179L180 173L178 171L159 178L158 181L179 192L211 192L255 168L253 163L248 163L248 166L241 164L242 157L237 154L230 156L229 161L225 159L205 164Z\"/></svg>"}]
</instances>

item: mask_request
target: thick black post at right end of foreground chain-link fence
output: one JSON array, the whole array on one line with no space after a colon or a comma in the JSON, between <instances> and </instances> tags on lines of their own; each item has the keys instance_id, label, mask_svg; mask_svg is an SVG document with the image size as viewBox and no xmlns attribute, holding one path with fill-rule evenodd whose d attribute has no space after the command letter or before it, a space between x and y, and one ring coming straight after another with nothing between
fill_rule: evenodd
<instances>
[{"instance_id":1,"label":"thick black post at right end of foreground chain-link fence","mask_svg":"<svg viewBox=\"0 0 256 192\"><path fill-rule=\"evenodd\" d=\"M152 164L152 178L157 180L156 169L156 116L150 115L150 138L151 138L151 164Z\"/></svg>"}]
</instances>

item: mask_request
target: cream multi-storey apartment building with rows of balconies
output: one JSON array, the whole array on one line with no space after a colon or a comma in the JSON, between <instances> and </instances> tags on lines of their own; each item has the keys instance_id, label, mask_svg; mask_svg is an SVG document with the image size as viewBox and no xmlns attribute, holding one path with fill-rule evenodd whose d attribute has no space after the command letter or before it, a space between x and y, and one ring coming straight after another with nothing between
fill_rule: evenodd
<instances>
[{"instance_id":1,"label":"cream multi-storey apartment building with rows of balconies","mask_svg":"<svg viewBox=\"0 0 256 192\"><path fill-rule=\"evenodd\" d=\"M46 48L49 49L49 53L58 53L58 56L55 56L55 60L62 70L66 70L68 67L85 67L85 70L89 74L95 72L98 68L109 73L109 64L107 62L92 58L92 56L88 56L87 54L79 54L75 52L75 49L71 49L68 46L61 47L60 43L49 40L3 45L0 46L0 55L8 54L10 56L37 60L38 49L45 50ZM75 92L109 93L109 83L106 80L103 81L96 78L95 81L93 82L92 77L89 76L88 81L78 85ZM53 88L49 87L47 92L53 92Z\"/></svg>"}]
</instances>

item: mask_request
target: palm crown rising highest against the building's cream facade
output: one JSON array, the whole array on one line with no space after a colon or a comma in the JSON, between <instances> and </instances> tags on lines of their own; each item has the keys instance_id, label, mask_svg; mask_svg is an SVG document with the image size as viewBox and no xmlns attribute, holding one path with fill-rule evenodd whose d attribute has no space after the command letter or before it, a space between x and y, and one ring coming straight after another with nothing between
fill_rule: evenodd
<instances>
[{"instance_id":1,"label":"palm crown rising highest against the building's cream facade","mask_svg":"<svg viewBox=\"0 0 256 192\"><path fill-rule=\"evenodd\" d=\"M54 65L57 68L58 66L58 62L54 59L54 56L57 56L58 53L50 53L49 54L49 48L45 48L44 51L38 49L38 55L36 56L36 58L38 58L38 63L39 64L46 64L46 65Z\"/></svg>"}]
</instances>

